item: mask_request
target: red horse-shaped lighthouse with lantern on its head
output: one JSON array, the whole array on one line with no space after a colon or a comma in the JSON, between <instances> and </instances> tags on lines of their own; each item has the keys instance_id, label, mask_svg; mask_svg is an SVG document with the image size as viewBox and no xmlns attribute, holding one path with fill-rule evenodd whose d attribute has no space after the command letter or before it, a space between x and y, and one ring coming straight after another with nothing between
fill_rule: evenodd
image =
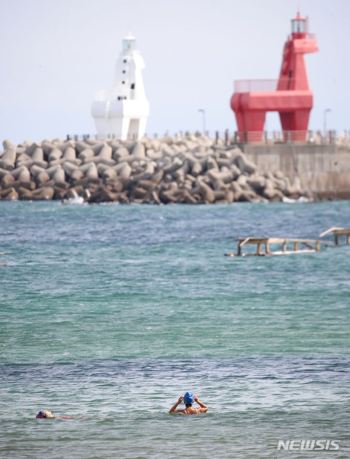
<instances>
[{"instance_id":1,"label":"red horse-shaped lighthouse with lantern on its head","mask_svg":"<svg viewBox=\"0 0 350 459\"><path fill-rule=\"evenodd\" d=\"M261 141L266 111L278 111L282 130L293 140L305 140L313 93L310 91L304 54L318 51L308 20L299 12L292 19L292 34L283 48L278 80L237 80L231 97L242 140Z\"/></svg>"}]
</instances>

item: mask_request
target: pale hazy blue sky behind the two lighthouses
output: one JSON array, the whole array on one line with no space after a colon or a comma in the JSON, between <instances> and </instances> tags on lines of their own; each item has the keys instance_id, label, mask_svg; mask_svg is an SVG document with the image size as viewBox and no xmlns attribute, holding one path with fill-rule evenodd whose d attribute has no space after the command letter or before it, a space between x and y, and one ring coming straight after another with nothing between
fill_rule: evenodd
<instances>
[{"instance_id":1,"label":"pale hazy blue sky behind the two lighthouses","mask_svg":"<svg viewBox=\"0 0 350 459\"><path fill-rule=\"evenodd\" d=\"M236 129L233 81L277 78L297 10L319 52L305 55L309 128L350 129L350 0L0 0L0 141L95 134L93 92L111 89L130 30L146 64L146 132ZM265 129L280 129L268 113Z\"/></svg>"}]
</instances>

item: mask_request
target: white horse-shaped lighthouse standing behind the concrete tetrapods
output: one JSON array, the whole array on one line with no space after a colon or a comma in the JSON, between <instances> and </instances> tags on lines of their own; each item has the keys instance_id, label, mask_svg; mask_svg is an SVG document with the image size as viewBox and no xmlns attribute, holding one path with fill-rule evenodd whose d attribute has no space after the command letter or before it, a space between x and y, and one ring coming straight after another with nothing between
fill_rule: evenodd
<instances>
[{"instance_id":1,"label":"white horse-shaped lighthouse standing behind the concrete tetrapods","mask_svg":"<svg viewBox=\"0 0 350 459\"><path fill-rule=\"evenodd\" d=\"M97 91L91 106L99 138L140 139L146 129L149 104L141 70L145 65L136 38L123 38L123 51L116 63L112 90Z\"/></svg>"}]
</instances>

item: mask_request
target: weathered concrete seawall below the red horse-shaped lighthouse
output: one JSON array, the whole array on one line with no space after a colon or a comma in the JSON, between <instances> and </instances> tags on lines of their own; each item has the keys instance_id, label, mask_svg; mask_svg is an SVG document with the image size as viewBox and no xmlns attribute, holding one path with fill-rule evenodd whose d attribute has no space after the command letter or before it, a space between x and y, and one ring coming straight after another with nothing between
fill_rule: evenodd
<instances>
[{"instance_id":1,"label":"weathered concrete seawall below the red horse-shaped lighthouse","mask_svg":"<svg viewBox=\"0 0 350 459\"><path fill-rule=\"evenodd\" d=\"M280 170L319 198L350 199L350 148L310 144L242 144L261 172Z\"/></svg>"}]
</instances>

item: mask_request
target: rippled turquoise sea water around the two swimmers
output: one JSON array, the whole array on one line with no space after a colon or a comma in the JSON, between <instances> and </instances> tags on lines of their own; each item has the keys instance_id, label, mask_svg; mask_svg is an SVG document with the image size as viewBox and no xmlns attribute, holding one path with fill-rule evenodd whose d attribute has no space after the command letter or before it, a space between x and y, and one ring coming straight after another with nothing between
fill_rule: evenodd
<instances>
[{"instance_id":1,"label":"rippled turquoise sea water around the two swimmers","mask_svg":"<svg viewBox=\"0 0 350 459\"><path fill-rule=\"evenodd\" d=\"M0 457L348 458L350 246L224 254L349 222L348 201L0 202ZM207 414L168 414L187 390Z\"/></svg>"}]
</instances>

